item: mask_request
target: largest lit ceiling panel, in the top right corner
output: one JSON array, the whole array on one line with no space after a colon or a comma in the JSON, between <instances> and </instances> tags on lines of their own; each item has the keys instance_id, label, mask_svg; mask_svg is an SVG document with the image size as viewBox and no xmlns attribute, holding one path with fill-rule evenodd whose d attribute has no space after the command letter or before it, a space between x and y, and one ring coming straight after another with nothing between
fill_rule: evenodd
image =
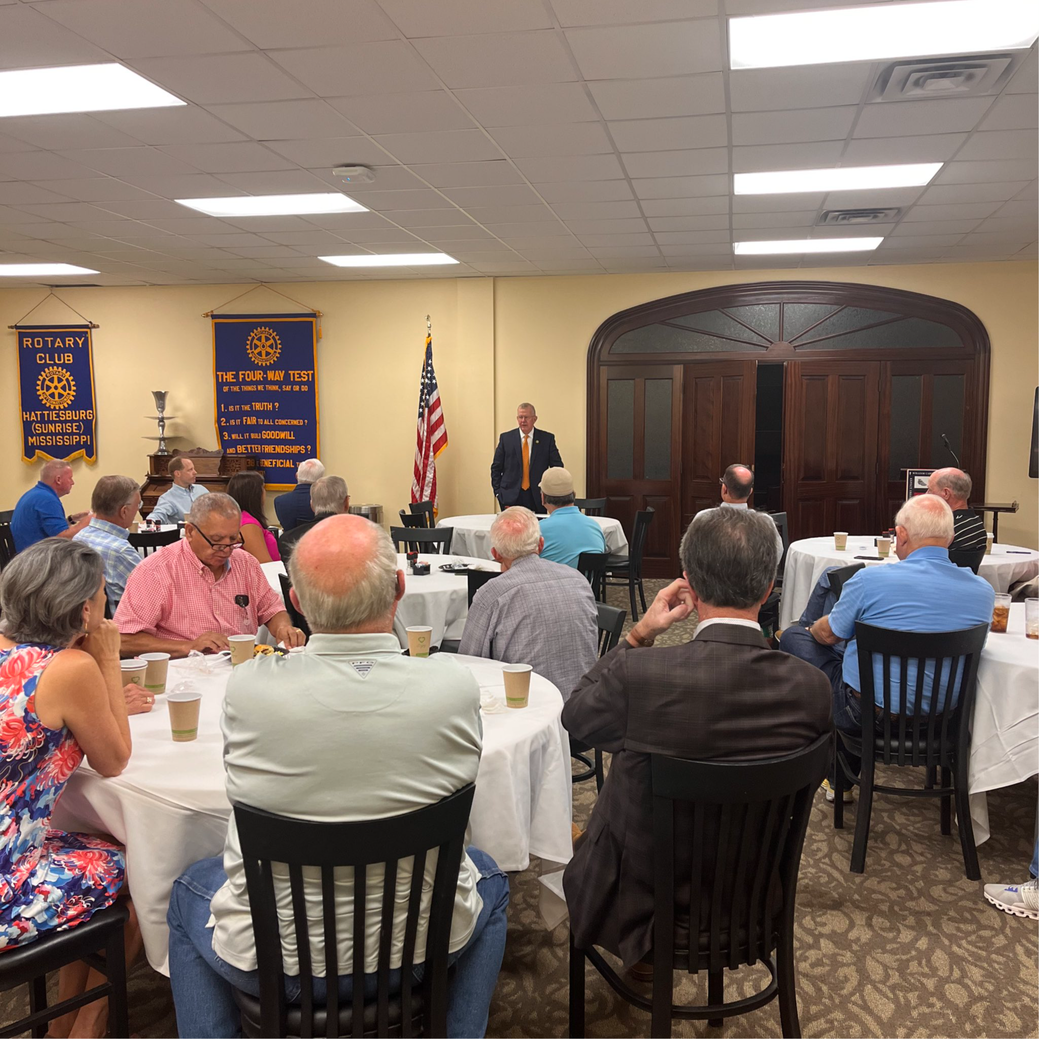
<instances>
[{"instance_id":1,"label":"largest lit ceiling panel, in the top right corner","mask_svg":"<svg viewBox=\"0 0 1039 1039\"><path fill-rule=\"evenodd\" d=\"M1027 50L1036 0L938 0L728 20L731 69Z\"/></svg>"}]
</instances>

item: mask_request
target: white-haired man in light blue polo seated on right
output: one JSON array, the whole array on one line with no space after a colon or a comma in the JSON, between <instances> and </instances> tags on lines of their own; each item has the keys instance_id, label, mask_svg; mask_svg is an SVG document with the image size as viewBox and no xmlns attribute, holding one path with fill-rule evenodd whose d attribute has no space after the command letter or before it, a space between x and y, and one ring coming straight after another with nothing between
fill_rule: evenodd
<instances>
[{"instance_id":1,"label":"white-haired man in light blue polo seated on right","mask_svg":"<svg viewBox=\"0 0 1039 1039\"><path fill-rule=\"evenodd\" d=\"M807 630L789 628L779 640L780 649L826 672L833 687L833 723L843 732L860 732L862 723L856 620L897 632L955 632L992 619L992 586L949 559L953 512L940 498L920 495L909 499L895 517L895 530L899 563L859 570L844 586L828 616L820 617ZM842 660L832 647L844 639L849 641ZM923 712L930 708L933 661L925 664L925 675ZM894 712L903 692L897 661L891 663L891 680ZM910 661L906 680L913 709L915 661ZM883 664L879 659L874 660L874 689L880 699L878 707L883 707ZM957 687L954 694L958 692Z\"/></svg>"}]
</instances>

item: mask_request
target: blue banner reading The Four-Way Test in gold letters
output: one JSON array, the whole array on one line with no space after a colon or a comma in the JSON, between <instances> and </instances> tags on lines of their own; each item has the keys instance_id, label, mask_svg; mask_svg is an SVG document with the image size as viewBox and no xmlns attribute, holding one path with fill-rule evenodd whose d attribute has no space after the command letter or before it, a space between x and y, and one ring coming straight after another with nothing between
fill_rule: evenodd
<instances>
[{"instance_id":1,"label":"blue banner reading The Four-Way Test in gold letters","mask_svg":"<svg viewBox=\"0 0 1039 1039\"><path fill-rule=\"evenodd\" d=\"M268 490L291 490L320 454L316 314L213 316L216 435L260 458Z\"/></svg>"}]
</instances>

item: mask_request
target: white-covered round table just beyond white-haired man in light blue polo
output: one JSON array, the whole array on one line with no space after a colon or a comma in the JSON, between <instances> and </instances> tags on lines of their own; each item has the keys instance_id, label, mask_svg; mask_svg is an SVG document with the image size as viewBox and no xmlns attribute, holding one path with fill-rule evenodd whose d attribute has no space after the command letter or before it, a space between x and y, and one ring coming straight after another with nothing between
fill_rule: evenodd
<instances>
[{"instance_id":1,"label":"white-covered round table just beyond white-haired man in light blue polo","mask_svg":"<svg viewBox=\"0 0 1039 1039\"><path fill-rule=\"evenodd\" d=\"M789 628L801 616L808 605L811 589L829 566L849 566L856 556L875 556L876 545L872 535L848 538L848 548L837 552L833 535L809 537L794 541L787 552L787 565L782 578L782 598L779 603L779 627ZM861 562L861 560L858 560ZM896 565L898 558L894 545L890 557L882 564L867 562L867 566ZM981 561L978 570L996 591L1008 591L1017 581L1029 581L1039 576L1039 552L1019 549L1015 544L993 544L990 555Z\"/></svg>"}]
</instances>

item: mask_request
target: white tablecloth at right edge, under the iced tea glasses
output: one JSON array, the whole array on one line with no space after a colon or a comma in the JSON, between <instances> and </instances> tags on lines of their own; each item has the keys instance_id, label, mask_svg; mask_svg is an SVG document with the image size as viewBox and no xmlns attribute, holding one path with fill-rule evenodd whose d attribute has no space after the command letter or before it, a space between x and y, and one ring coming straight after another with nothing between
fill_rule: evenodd
<instances>
[{"instance_id":1,"label":"white tablecloth at right edge, under the iced tea glasses","mask_svg":"<svg viewBox=\"0 0 1039 1039\"><path fill-rule=\"evenodd\" d=\"M978 666L970 742L970 818L989 837L985 791L1039 774L1039 639L1024 637L1024 604L1010 607L1005 633L989 632Z\"/></svg>"}]
</instances>

